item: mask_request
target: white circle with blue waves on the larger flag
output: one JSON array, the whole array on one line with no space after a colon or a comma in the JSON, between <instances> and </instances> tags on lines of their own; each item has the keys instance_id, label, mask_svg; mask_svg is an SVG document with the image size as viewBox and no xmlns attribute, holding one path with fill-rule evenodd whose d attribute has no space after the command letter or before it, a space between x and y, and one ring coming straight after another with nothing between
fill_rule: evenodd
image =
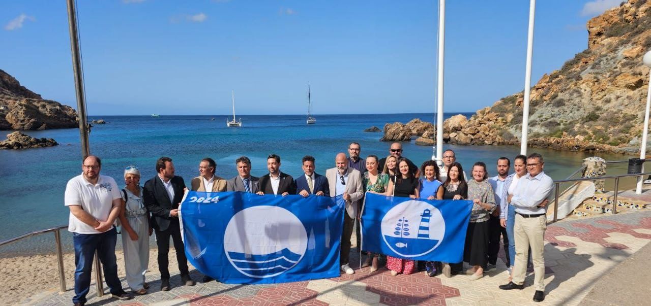
<instances>
[{"instance_id":1,"label":"white circle with blue waves on the larger flag","mask_svg":"<svg viewBox=\"0 0 651 306\"><path fill-rule=\"evenodd\" d=\"M261 205L240 210L224 232L224 251L240 273L256 278L283 274L307 250L303 223L282 207Z\"/></svg>"}]
</instances>

